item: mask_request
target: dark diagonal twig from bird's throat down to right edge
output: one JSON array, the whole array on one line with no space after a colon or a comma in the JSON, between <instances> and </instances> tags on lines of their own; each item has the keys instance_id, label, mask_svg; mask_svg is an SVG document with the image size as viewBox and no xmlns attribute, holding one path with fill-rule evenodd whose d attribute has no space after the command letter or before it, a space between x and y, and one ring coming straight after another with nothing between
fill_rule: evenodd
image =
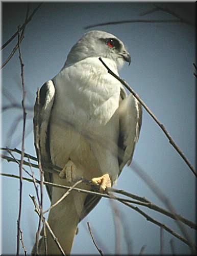
<instances>
[{"instance_id":1,"label":"dark diagonal twig from bird's throat down to right edge","mask_svg":"<svg viewBox=\"0 0 197 256\"><path fill-rule=\"evenodd\" d=\"M106 63L102 60L102 58L100 57L99 60L102 62L102 64L104 65L104 67L107 69L108 73L110 75L112 75L113 77L115 77L118 81L120 81L133 95L134 97L141 103L141 105L144 107L144 109L147 111L147 113L149 113L151 115L151 117L155 120L155 122L159 125L159 127L161 128L161 130L164 132L164 134L166 135L166 137L169 139L169 143L175 148L175 150L179 153L179 155L182 157L182 159L185 161L185 163L188 165L188 167L190 168L190 170L192 171L192 173L195 175L195 177L197 177L197 173L194 169L194 167L192 166L192 164L189 162L189 160L187 159L187 157L184 155L184 153L181 151L181 149L178 147L178 145L175 143L175 141L173 140L173 138L170 136L169 132L166 130L165 126L159 121L159 119L153 114L153 112L148 108L148 106L143 102L143 100L139 97L139 95L129 86L129 84L121 79L119 76L117 76L116 74L114 74L106 65Z\"/></svg>"}]
</instances>

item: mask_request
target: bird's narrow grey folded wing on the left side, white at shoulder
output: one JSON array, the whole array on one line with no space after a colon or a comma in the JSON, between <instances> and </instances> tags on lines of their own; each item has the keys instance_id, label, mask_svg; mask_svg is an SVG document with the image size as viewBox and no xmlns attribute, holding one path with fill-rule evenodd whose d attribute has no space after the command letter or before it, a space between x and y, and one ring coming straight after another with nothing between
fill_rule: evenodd
<instances>
[{"instance_id":1,"label":"bird's narrow grey folded wing on the left side, white at shoulder","mask_svg":"<svg viewBox=\"0 0 197 256\"><path fill-rule=\"evenodd\" d=\"M37 142L39 143L41 163L45 170L45 181L53 182L52 174L49 173L51 165L50 147L49 147L49 123L51 117L51 110L54 103L55 87L52 80L43 84L37 95L34 105L34 144L36 154L38 157ZM46 172L46 170L48 170ZM52 198L52 187L46 186L48 196Z\"/></svg>"}]
</instances>

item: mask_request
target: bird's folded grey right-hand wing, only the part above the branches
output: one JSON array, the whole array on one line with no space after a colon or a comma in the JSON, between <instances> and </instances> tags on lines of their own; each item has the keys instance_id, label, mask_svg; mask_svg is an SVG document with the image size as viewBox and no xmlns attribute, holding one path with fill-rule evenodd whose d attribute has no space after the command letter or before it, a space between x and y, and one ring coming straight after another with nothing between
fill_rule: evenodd
<instances>
[{"instance_id":1,"label":"bird's folded grey right-hand wing, only the part above the branches","mask_svg":"<svg viewBox=\"0 0 197 256\"><path fill-rule=\"evenodd\" d=\"M121 96L121 94L120 94ZM131 163L142 123L142 106L130 94L128 97L122 93L119 103L119 139L118 161L120 172L128 163Z\"/></svg>"}]
</instances>

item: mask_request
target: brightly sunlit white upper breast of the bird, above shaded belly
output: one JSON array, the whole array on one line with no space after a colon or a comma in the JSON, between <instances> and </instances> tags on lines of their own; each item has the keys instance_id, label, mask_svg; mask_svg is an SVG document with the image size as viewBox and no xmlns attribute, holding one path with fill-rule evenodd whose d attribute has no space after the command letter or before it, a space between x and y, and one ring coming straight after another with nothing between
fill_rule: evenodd
<instances>
[{"instance_id":1,"label":"brightly sunlit white upper breast of the bird, above shaded belly","mask_svg":"<svg viewBox=\"0 0 197 256\"><path fill-rule=\"evenodd\" d=\"M57 97L65 96L62 109L86 122L110 120L118 108L120 95L120 83L114 77L100 65L87 63L67 68L62 76L65 83L57 90Z\"/></svg>"}]
</instances>

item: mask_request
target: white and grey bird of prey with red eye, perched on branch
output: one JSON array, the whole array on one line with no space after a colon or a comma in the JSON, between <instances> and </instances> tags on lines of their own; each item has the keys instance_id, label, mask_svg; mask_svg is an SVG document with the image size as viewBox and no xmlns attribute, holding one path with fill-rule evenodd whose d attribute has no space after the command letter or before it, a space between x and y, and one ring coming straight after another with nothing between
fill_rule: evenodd
<instances>
[{"instance_id":1,"label":"white and grey bird of prey with red eye, perched on branch","mask_svg":"<svg viewBox=\"0 0 197 256\"><path fill-rule=\"evenodd\" d=\"M129 52L116 36L90 31L71 48L62 70L40 89L34 106L34 138L39 143L45 181L70 186L83 177L100 185L104 192L132 161L142 108L132 94L127 96L99 57L116 75L125 62L131 62ZM61 168L59 174L50 172L52 165ZM78 187L91 188L83 182ZM46 188L52 205L66 191ZM72 190L50 210L48 224L66 254L71 252L79 222L99 200L98 196ZM50 233L47 250L48 254L61 254ZM43 237L39 253L44 254Z\"/></svg>"}]
</instances>

